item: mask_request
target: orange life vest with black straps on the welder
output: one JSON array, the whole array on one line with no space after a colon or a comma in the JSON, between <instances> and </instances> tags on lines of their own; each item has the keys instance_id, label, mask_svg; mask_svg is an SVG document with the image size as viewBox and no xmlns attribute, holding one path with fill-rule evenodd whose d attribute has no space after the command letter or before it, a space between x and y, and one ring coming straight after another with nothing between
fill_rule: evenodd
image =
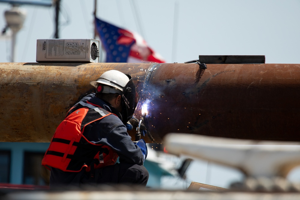
<instances>
[{"instance_id":1,"label":"orange life vest with black straps on the welder","mask_svg":"<svg viewBox=\"0 0 300 200\"><path fill-rule=\"evenodd\" d=\"M81 101L73 106L56 128L42 165L49 170L54 167L65 172L79 172L83 167L90 171L90 168L115 164L118 154L113 149L91 143L83 135L86 125L111 114L88 102Z\"/></svg>"}]
</instances>

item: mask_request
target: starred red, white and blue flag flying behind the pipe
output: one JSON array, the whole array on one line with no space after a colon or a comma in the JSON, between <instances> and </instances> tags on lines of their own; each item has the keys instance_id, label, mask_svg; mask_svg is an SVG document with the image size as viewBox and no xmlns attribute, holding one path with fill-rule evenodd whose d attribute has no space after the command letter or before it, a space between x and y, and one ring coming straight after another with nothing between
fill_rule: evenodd
<instances>
[{"instance_id":1,"label":"starred red, white and blue flag flying behind the pipe","mask_svg":"<svg viewBox=\"0 0 300 200\"><path fill-rule=\"evenodd\" d=\"M165 62L139 34L119 28L97 17L95 26L106 51L106 62Z\"/></svg>"}]
</instances>

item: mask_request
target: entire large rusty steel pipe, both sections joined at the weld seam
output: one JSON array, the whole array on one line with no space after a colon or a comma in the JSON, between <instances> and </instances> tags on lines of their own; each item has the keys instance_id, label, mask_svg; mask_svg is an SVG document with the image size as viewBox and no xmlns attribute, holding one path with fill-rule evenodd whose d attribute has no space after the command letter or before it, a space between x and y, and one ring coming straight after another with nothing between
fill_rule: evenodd
<instances>
[{"instance_id":1,"label":"entire large rusty steel pipe, both sections joined at the weld seam","mask_svg":"<svg viewBox=\"0 0 300 200\"><path fill-rule=\"evenodd\" d=\"M148 103L147 142L170 132L300 141L300 64L182 63L0 63L0 141L49 142L89 82L111 69L131 74Z\"/></svg>"}]
</instances>

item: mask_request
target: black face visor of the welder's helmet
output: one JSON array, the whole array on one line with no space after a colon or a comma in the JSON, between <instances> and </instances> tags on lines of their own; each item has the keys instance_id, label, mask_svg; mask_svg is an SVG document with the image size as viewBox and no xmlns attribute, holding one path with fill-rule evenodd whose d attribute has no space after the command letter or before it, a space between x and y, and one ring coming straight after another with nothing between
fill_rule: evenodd
<instances>
[{"instance_id":1,"label":"black face visor of the welder's helmet","mask_svg":"<svg viewBox=\"0 0 300 200\"><path fill-rule=\"evenodd\" d=\"M126 75L130 76L128 74ZM122 121L124 124L126 124L127 121L129 121L132 115L134 114L139 99L140 99L140 95L137 93L134 82L132 81L132 78L130 76L130 80L125 85L122 92L123 111L121 114L122 114Z\"/></svg>"}]
</instances>

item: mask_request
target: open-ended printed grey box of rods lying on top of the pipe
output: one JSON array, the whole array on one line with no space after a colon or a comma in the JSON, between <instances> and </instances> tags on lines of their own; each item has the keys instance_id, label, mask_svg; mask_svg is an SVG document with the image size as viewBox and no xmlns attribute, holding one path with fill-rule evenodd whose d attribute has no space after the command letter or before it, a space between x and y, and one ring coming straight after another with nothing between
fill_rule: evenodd
<instances>
[{"instance_id":1,"label":"open-ended printed grey box of rods lying on top of the pipe","mask_svg":"<svg viewBox=\"0 0 300 200\"><path fill-rule=\"evenodd\" d=\"M100 41L94 39L38 39L37 62L99 62Z\"/></svg>"}]
</instances>

